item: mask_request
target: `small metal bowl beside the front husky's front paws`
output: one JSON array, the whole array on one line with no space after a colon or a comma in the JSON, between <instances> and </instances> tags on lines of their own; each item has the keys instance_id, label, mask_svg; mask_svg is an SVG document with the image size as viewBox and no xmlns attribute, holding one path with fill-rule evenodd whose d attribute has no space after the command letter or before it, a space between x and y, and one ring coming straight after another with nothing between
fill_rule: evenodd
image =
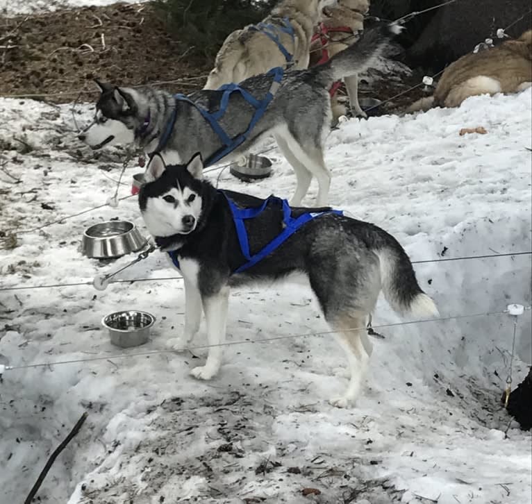
<instances>
[{"instance_id":1,"label":"small metal bowl beside the front husky's front paws","mask_svg":"<svg viewBox=\"0 0 532 504\"><path fill-rule=\"evenodd\" d=\"M101 319L102 326L109 331L111 343L122 348L146 343L154 322L153 315L137 310L115 312Z\"/></svg>"}]
</instances>

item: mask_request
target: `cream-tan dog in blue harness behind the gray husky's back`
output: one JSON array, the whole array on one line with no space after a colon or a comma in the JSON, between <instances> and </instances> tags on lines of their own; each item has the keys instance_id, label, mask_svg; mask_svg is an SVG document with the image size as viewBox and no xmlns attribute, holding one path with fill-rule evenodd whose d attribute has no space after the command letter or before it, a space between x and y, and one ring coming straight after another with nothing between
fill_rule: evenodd
<instances>
[{"instance_id":1,"label":"cream-tan dog in blue harness behind the gray husky's back","mask_svg":"<svg viewBox=\"0 0 532 504\"><path fill-rule=\"evenodd\" d=\"M282 19L294 30L294 37L275 30L275 35L292 56L294 69L308 67L310 39L321 15L322 8L336 0L283 0L263 20L265 24L281 28ZM228 35L216 56L215 67L211 70L203 89L215 90L222 84L239 83L245 78L265 74L274 67L285 67L287 60L279 46L263 31L246 26Z\"/></svg>"}]
</instances>

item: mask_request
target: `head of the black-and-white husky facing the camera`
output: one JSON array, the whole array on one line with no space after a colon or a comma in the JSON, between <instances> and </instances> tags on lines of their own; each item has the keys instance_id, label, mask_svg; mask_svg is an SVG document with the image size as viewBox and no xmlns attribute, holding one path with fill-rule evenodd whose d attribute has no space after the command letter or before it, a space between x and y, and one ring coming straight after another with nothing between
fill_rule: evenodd
<instances>
[{"instance_id":1,"label":"head of the black-and-white husky facing the camera","mask_svg":"<svg viewBox=\"0 0 532 504\"><path fill-rule=\"evenodd\" d=\"M153 156L139 192L140 212L151 235L188 235L197 228L203 209L203 161L197 153L187 165L166 166Z\"/></svg>"}]
</instances>

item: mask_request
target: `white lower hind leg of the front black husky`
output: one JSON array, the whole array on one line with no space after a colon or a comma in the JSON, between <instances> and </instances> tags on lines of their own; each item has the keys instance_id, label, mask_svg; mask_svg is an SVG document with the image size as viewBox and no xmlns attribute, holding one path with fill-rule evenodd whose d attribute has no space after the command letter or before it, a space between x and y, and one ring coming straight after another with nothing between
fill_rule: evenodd
<instances>
[{"instance_id":1,"label":"white lower hind leg of the front black husky","mask_svg":"<svg viewBox=\"0 0 532 504\"><path fill-rule=\"evenodd\" d=\"M366 314L363 312L335 319L330 324L338 330L338 342L346 353L350 374L347 390L342 396L331 398L330 403L338 408L346 408L355 403L363 388L372 344L367 337Z\"/></svg>"}]
</instances>

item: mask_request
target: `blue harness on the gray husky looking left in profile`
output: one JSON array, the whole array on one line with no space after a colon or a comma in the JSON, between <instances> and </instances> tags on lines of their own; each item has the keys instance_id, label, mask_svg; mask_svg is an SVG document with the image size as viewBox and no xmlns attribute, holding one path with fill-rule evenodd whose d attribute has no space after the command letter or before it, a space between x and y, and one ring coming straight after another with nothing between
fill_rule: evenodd
<instances>
[{"instance_id":1,"label":"blue harness on the gray husky looking left in profile","mask_svg":"<svg viewBox=\"0 0 532 504\"><path fill-rule=\"evenodd\" d=\"M262 100L258 100L253 96L250 92L244 90L244 88L240 87L238 84L224 84L221 87L218 88L217 91L223 91L224 94L222 94L222 100L220 101L219 110L217 112L209 112L205 108L199 106L197 103L192 101L188 96L185 94L176 94L174 98L176 100L186 101L187 103L190 103L190 105L197 108L199 113L203 116L203 119L205 119L208 124L210 124L210 127L213 128L215 133L219 136L219 139L222 141L224 146L221 149L218 149L215 153L213 153L211 156L209 156L204 162L204 166L210 166L214 165L215 162L218 162L221 160L224 156L227 156L228 153L233 152L246 138L248 137L249 133L251 133L251 130L256 126L257 122L260 120L261 117L263 117L264 112L266 111L267 106L269 105L269 102L272 101L274 98L274 94L279 89L279 86L281 85L281 81L283 79L284 71L281 67L275 67L272 68L267 75L273 76L272 85L270 85L268 92L265 94L264 98ZM247 127L247 130L244 131L244 133L240 133L240 135L231 138L227 135L227 133L224 131L224 128L219 125L219 119L222 119L224 117L224 114L227 110L227 106L229 104L229 98L231 97L231 94L233 92L239 92L242 95L242 98L247 101L253 108L255 108L255 112L253 113L253 117L251 117L251 121L249 122L249 126ZM156 148L156 150L153 152L158 153L160 151L163 151L165 148L170 135L172 134L172 131L174 130L174 125L176 124L176 118L177 118L177 109L174 108L174 112L172 112L172 118L167 124L166 130L164 135L160 138L159 144ZM153 155L152 154L152 155Z\"/></svg>"}]
</instances>

